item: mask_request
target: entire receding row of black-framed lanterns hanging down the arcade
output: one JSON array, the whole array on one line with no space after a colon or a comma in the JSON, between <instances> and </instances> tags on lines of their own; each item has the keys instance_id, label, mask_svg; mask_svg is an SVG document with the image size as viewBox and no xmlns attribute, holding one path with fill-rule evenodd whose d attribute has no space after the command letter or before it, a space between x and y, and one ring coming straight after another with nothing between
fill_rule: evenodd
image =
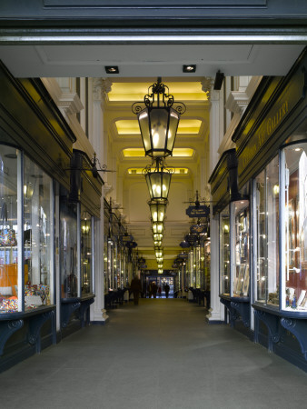
<instances>
[{"instance_id":1,"label":"entire receding row of black-framed lanterns hanging down the arcade","mask_svg":"<svg viewBox=\"0 0 307 409\"><path fill-rule=\"evenodd\" d=\"M152 165L155 164L153 170L152 165L146 166L144 175L151 199L148 204L153 223L153 242L160 244L157 248L161 248L163 240L163 220L172 179L172 170L165 167L164 158L173 155L180 116L185 109L183 103L174 102L161 77L148 88L144 101L132 106L140 126L145 155L152 157Z\"/></svg>"}]
</instances>

